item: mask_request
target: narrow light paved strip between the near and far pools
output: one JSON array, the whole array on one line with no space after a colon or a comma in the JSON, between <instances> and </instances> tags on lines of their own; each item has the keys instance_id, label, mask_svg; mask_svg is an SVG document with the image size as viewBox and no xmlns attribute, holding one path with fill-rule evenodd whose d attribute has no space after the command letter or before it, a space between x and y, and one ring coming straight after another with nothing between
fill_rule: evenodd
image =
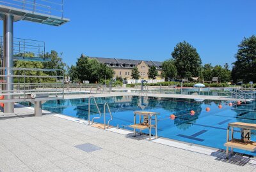
<instances>
[{"instance_id":1,"label":"narrow light paved strip between the near and far pools","mask_svg":"<svg viewBox=\"0 0 256 172\"><path fill-rule=\"evenodd\" d=\"M136 92L106 92L104 94L69 94L65 95L64 99L78 99L94 97L111 97L111 96L149 96L149 97L170 97L178 99L206 99L206 100L220 100L220 101L251 101L252 99L235 99L225 96L201 96L201 95L188 95L188 94L140 94Z\"/></svg>"}]
</instances>

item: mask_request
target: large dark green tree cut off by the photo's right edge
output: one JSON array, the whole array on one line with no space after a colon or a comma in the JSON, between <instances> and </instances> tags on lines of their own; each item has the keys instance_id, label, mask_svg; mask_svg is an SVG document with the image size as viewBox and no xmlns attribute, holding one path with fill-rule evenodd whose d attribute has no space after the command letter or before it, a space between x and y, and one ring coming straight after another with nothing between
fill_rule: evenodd
<instances>
[{"instance_id":1,"label":"large dark green tree cut off by the photo's right edge","mask_svg":"<svg viewBox=\"0 0 256 172\"><path fill-rule=\"evenodd\" d=\"M256 36L244 38L238 45L236 62L233 63L232 79L234 82L256 82Z\"/></svg>"}]
</instances>

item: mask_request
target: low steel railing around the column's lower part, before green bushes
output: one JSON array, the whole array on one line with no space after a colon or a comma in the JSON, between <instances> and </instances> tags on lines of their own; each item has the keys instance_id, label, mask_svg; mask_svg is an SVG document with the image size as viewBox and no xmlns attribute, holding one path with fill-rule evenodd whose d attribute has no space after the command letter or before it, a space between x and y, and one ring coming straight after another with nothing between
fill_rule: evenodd
<instances>
[{"instance_id":1,"label":"low steel railing around the column's lower part, before green bushes","mask_svg":"<svg viewBox=\"0 0 256 172\"><path fill-rule=\"evenodd\" d=\"M31 94L64 98L63 71L60 69L1 67L0 78L0 95L5 102L29 101Z\"/></svg>"}]
</instances>

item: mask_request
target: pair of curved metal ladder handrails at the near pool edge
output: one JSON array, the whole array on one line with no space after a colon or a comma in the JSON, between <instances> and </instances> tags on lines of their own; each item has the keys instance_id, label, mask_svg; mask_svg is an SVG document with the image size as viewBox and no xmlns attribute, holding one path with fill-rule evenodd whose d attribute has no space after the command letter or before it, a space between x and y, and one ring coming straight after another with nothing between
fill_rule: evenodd
<instances>
[{"instance_id":1,"label":"pair of curved metal ladder handrails at the near pool edge","mask_svg":"<svg viewBox=\"0 0 256 172\"><path fill-rule=\"evenodd\" d=\"M95 99L95 97L94 96L90 96L90 97L88 97L88 124L90 125L90 100L91 99L93 99L93 101L94 101L94 103L95 103L95 106L96 106L96 108L97 108L97 110L98 110L98 112L99 112L99 117L94 117L94 118L92 118L92 124L93 124L93 120L94 119L99 119L99 118L101 118L102 117L102 114L100 113L100 109L99 109L99 106L98 106L98 104L97 104L97 102L96 102L96 99ZM108 126L107 126L107 128L109 127L109 122L111 122L111 120L113 120L113 115L112 115L112 113L111 113L111 110L109 109L109 106L108 106L108 103L105 103L104 104L104 129L106 129L106 107L108 108L108 111L109 111L109 115L110 115L110 120L108 120Z\"/></svg>"}]
</instances>

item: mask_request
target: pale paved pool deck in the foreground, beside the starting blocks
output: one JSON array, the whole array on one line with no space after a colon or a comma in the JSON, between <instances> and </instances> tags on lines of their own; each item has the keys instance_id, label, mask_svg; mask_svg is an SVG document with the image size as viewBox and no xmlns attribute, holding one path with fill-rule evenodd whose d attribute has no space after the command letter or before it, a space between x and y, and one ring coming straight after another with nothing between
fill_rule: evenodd
<instances>
[{"instance_id":1,"label":"pale paved pool deck in the foreground, beside the starting blocks","mask_svg":"<svg viewBox=\"0 0 256 172\"><path fill-rule=\"evenodd\" d=\"M113 96L113 95L112 95ZM17 106L17 105L16 105ZM0 171L256 171L256 159L147 136L104 131L85 120L18 106L0 112ZM84 152L90 143L101 149Z\"/></svg>"}]
</instances>

